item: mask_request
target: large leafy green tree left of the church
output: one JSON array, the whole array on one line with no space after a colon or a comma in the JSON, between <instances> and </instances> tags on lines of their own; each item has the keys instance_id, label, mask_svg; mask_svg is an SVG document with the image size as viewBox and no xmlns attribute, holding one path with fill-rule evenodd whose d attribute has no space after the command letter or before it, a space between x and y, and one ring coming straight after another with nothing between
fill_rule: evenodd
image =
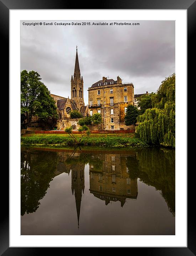
<instances>
[{"instance_id":1,"label":"large leafy green tree left of the church","mask_svg":"<svg viewBox=\"0 0 196 256\"><path fill-rule=\"evenodd\" d=\"M40 75L35 71L21 71L21 119L26 116L31 127L31 118L37 115L40 121L50 122L57 118L55 101L50 97L47 87L41 82Z\"/></svg>"}]
</instances>

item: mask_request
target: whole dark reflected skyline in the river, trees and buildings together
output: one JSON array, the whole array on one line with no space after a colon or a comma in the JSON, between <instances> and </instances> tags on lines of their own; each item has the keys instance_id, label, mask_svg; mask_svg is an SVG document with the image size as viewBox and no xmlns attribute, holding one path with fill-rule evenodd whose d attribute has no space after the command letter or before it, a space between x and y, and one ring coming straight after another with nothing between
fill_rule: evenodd
<instances>
[{"instance_id":1,"label":"whole dark reflected skyline in the river, trees and buildings together","mask_svg":"<svg viewBox=\"0 0 196 256\"><path fill-rule=\"evenodd\" d=\"M71 172L79 228L86 164L89 164L89 191L105 201L105 205L120 201L123 207L127 198L136 200L139 178L160 191L175 216L175 151L151 148L124 154L118 151L21 150L21 215L37 210L54 177Z\"/></svg>"}]
</instances>

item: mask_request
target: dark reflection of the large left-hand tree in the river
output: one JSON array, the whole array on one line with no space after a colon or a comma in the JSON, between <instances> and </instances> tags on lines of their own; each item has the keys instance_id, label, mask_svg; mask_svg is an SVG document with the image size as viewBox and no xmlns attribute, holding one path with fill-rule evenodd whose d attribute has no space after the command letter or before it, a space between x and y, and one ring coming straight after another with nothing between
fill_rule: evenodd
<instances>
[{"instance_id":1,"label":"dark reflection of the large left-hand tree in the river","mask_svg":"<svg viewBox=\"0 0 196 256\"><path fill-rule=\"evenodd\" d=\"M37 210L55 177L57 152L21 151L21 215Z\"/></svg>"}]
</instances>

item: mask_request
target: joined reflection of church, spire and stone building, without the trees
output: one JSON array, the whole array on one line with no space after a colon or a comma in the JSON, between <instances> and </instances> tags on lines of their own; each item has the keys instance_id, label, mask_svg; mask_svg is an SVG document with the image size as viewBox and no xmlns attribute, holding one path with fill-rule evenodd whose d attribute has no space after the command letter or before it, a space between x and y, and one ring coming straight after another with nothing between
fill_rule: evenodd
<instances>
[{"instance_id":1,"label":"joined reflection of church, spire and stone building, without the trees","mask_svg":"<svg viewBox=\"0 0 196 256\"><path fill-rule=\"evenodd\" d=\"M79 228L82 193L84 193L84 167L89 164L90 193L108 205L110 201L120 201L123 207L126 198L136 200L138 196L137 178L130 178L126 166L126 156L120 154L71 154L58 152L56 174L70 173L72 195L75 196Z\"/></svg>"}]
</instances>

